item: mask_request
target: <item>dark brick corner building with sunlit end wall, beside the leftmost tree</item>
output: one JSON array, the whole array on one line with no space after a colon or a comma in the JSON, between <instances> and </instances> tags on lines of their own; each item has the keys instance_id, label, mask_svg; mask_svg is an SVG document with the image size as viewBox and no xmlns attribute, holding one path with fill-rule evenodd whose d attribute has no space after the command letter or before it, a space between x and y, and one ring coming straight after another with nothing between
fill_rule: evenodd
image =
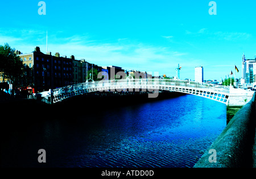
<instances>
[{"instance_id":1,"label":"dark brick corner building with sunlit end wall, beside the leftmost tree","mask_svg":"<svg viewBox=\"0 0 256 179\"><path fill-rule=\"evenodd\" d=\"M22 59L24 66L32 69L32 86L35 91L45 91L70 85L72 79L72 59L55 56L51 52L44 54L39 47L35 47L32 53L22 54L16 51L16 55Z\"/></svg>"}]
</instances>

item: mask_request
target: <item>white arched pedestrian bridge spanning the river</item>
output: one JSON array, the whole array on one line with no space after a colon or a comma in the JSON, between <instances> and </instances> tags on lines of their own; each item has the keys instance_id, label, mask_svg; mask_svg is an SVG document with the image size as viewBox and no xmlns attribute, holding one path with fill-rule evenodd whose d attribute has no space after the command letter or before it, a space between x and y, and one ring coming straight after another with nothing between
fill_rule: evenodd
<instances>
[{"instance_id":1,"label":"white arched pedestrian bridge spanning the river","mask_svg":"<svg viewBox=\"0 0 256 179\"><path fill-rule=\"evenodd\" d=\"M95 91L117 91L119 93L129 93L130 91L139 90L148 91L149 98L157 97L159 90L168 90L198 95L200 97L212 99L225 104L228 103L230 95L230 88L228 86L183 80L127 78L127 80L101 80L64 86L63 88L51 90L51 97L52 103L56 103L75 95Z\"/></svg>"}]
</instances>

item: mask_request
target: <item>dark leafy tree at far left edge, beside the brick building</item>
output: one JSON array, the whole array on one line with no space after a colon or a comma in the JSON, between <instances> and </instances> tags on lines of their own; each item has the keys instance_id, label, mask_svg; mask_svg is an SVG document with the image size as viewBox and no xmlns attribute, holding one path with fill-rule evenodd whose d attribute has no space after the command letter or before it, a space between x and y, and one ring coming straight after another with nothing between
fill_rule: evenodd
<instances>
[{"instance_id":1,"label":"dark leafy tree at far left edge, beside the brick building","mask_svg":"<svg viewBox=\"0 0 256 179\"><path fill-rule=\"evenodd\" d=\"M15 54L15 49L7 43L4 46L0 45L0 72L2 72L3 81L7 78L14 85L23 74L22 60Z\"/></svg>"}]
</instances>

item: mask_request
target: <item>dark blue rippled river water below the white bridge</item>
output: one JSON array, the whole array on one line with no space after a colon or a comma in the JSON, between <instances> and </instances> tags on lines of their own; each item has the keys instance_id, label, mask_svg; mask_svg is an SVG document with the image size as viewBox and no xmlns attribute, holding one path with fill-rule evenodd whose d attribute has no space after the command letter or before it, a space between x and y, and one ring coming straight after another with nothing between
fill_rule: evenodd
<instances>
[{"instance_id":1,"label":"dark blue rippled river water below the white bridge","mask_svg":"<svg viewBox=\"0 0 256 179\"><path fill-rule=\"evenodd\" d=\"M108 110L104 104L98 102L98 112L77 105L53 116L20 106L20 120L30 120L1 127L1 166L191 168L226 127L225 104L195 95L120 101ZM39 149L46 163L38 163Z\"/></svg>"}]
</instances>

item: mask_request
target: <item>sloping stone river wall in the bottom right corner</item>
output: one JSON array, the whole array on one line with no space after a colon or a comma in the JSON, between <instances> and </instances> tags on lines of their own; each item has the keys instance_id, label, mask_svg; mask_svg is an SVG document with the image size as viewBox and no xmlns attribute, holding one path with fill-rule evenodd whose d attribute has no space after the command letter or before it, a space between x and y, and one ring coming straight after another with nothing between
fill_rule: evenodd
<instances>
[{"instance_id":1,"label":"sloping stone river wall in the bottom right corner","mask_svg":"<svg viewBox=\"0 0 256 179\"><path fill-rule=\"evenodd\" d=\"M205 151L194 168L250 168L256 160L255 93Z\"/></svg>"}]
</instances>

